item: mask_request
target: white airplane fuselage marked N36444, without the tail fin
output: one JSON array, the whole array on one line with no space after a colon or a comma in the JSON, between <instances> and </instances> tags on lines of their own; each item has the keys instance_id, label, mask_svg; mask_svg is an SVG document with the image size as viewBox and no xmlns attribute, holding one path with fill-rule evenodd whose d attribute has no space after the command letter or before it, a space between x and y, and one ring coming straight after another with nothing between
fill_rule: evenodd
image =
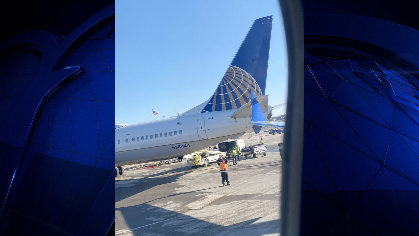
<instances>
[{"instance_id":1,"label":"white airplane fuselage marked N36444, without the tail fin","mask_svg":"<svg viewBox=\"0 0 419 236\"><path fill-rule=\"evenodd\" d=\"M236 110L181 115L116 128L115 166L181 157L242 135L251 128L251 118L231 118Z\"/></svg>"}]
</instances>

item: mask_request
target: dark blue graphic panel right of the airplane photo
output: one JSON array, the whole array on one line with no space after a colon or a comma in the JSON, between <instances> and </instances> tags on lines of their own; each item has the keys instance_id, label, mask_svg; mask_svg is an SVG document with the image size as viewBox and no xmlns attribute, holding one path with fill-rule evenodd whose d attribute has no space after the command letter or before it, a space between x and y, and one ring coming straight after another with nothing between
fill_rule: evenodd
<instances>
[{"instance_id":1,"label":"dark blue graphic panel right of the airplane photo","mask_svg":"<svg viewBox=\"0 0 419 236\"><path fill-rule=\"evenodd\" d=\"M419 235L417 9L304 1L302 235Z\"/></svg>"}]
</instances>

